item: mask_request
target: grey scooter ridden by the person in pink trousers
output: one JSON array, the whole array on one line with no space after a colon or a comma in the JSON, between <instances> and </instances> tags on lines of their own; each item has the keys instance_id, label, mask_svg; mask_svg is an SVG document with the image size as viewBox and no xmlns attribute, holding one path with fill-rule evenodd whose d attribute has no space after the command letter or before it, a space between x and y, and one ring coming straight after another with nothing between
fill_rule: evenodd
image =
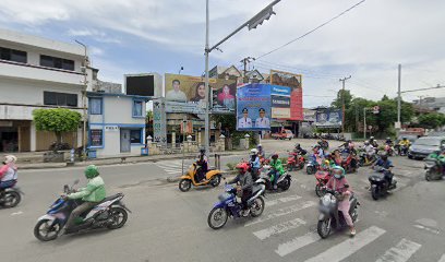
<instances>
[{"instance_id":1,"label":"grey scooter ridden by the person in pink trousers","mask_svg":"<svg viewBox=\"0 0 445 262\"><path fill-rule=\"evenodd\" d=\"M330 189L326 189L326 194L320 198L320 215L316 230L321 238L327 238L332 229L338 228L334 212L338 212L340 228L347 226L342 212L337 210L339 201L337 198L339 198L339 193ZM357 217L359 216L358 206L360 205L360 203L358 202L354 194L350 196L349 202L349 215L351 216L352 222L356 223Z\"/></svg>"}]
</instances>

